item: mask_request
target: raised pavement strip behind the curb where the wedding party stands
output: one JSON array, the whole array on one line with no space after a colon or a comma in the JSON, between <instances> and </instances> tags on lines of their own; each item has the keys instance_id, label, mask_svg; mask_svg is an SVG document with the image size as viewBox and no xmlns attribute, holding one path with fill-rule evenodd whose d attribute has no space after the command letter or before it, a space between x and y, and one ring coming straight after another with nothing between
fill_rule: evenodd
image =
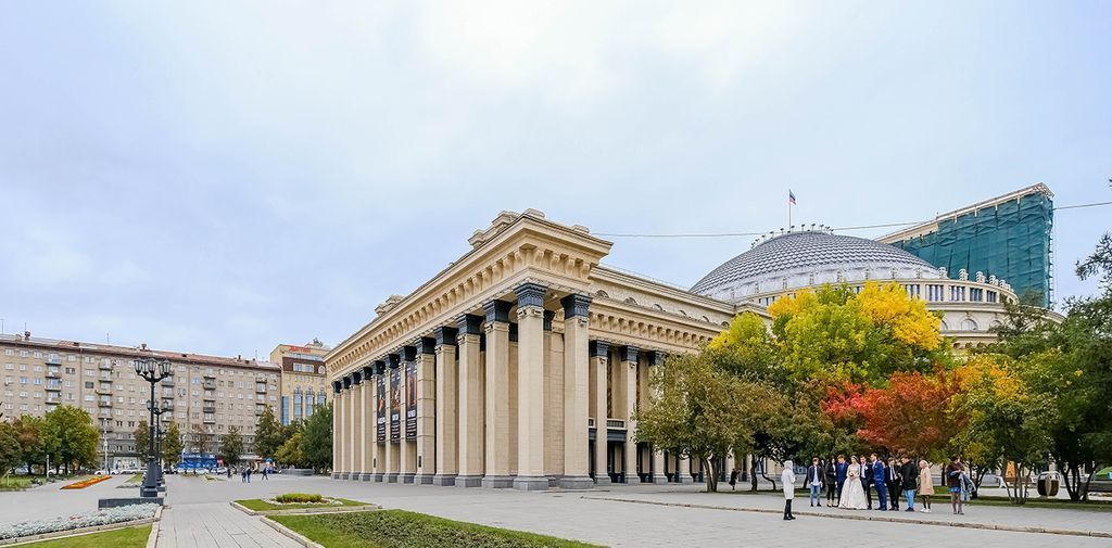
<instances>
[{"instance_id":1,"label":"raised pavement strip behind the curb where the wedding party stands","mask_svg":"<svg viewBox=\"0 0 1112 548\"><path fill-rule=\"evenodd\" d=\"M773 514L784 511L784 499L781 496L774 494L751 494L741 490L729 491L728 486L726 487L726 491L707 494L699 491L702 486L657 487L655 489L651 486L629 486L615 488L608 492L584 495L584 498L717 510ZM954 516L951 512L949 502L936 502L933 505L933 509L934 512L932 514L917 511L912 514L903 510L841 510L826 506L812 508L807 504L806 496L800 497L797 495L794 501L793 514L796 516L817 516L828 519L895 521L901 524L1112 538L1112 512L1109 511L985 506L977 505L975 501L965 505L964 516Z\"/></svg>"}]
</instances>

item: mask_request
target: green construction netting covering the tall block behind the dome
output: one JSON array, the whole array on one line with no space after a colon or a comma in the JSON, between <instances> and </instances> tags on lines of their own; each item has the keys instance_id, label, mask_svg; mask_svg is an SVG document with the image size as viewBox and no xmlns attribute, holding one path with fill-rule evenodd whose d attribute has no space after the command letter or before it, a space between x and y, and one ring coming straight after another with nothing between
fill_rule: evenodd
<instances>
[{"instance_id":1,"label":"green construction netting covering the tall block behind the dome","mask_svg":"<svg viewBox=\"0 0 1112 548\"><path fill-rule=\"evenodd\" d=\"M1051 302L1053 201L1042 193L939 221L939 230L893 243L945 267L952 278L964 268L1007 281L1019 296L1035 292Z\"/></svg>"}]
</instances>

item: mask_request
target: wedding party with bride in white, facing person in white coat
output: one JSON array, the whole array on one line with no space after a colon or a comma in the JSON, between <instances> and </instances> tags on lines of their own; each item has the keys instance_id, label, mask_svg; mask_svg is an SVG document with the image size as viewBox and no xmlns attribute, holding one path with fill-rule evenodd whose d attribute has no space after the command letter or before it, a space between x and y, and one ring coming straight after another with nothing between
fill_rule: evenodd
<instances>
[{"instance_id":1,"label":"wedding party with bride in white, facing person in white coat","mask_svg":"<svg viewBox=\"0 0 1112 548\"><path fill-rule=\"evenodd\" d=\"M957 456L950 458L950 464L943 469L943 482L950 491L950 502L954 515L964 515L963 504L969 500L971 481ZM784 461L781 476L784 482L784 519L795 519L792 515L792 499L795 497L795 469L791 460ZM825 462L818 457L811 459L803 485L810 492L812 507L823 506L823 490L826 491L826 504L833 508L851 510L872 510L873 491L876 491L876 509L897 511L900 498L903 495L904 511L915 511L915 496L920 497L920 511L931 512L931 496L934 495L934 480L931 475L931 464L925 460L915 462L907 457L890 458L885 464L876 454L867 458L854 455L846 460L844 455Z\"/></svg>"}]
</instances>

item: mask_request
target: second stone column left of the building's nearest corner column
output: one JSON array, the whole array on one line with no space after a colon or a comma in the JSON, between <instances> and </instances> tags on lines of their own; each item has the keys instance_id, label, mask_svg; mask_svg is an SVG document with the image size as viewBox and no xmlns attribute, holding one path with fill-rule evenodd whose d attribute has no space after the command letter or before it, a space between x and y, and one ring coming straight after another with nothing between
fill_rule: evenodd
<instances>
[{"instance_id":1,"label":"second stone column left of the building's nearest corner column","mask_svg":"<svg viewBox=\"0 0 1112 548\"><path fill-rule=\"evenodd\" d=\"M459 329L459 474L456 487L483 485L485 455L483 452L483 424L486 400L484 367L479 361L479 337L483 318L464 315L457 322Z\"/></svg>"}]
</instances>

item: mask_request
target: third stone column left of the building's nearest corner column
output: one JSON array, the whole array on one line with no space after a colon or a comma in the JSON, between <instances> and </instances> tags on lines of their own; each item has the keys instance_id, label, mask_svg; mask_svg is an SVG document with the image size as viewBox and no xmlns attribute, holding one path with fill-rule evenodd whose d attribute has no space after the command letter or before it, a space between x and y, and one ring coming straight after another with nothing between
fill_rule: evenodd
<instances>
[{"instance_id":1,"label":"third stone column left of the building's nearest corner column","mask_svg":"<svg viewBox=\"0 0 1112 548\"><path fill-rule=\"evenodd\" d=\"M456 485L458 456L459 372L456 367L456 328L436 329L436 476L433 485Z\"/></svg>"}]
</instances>

